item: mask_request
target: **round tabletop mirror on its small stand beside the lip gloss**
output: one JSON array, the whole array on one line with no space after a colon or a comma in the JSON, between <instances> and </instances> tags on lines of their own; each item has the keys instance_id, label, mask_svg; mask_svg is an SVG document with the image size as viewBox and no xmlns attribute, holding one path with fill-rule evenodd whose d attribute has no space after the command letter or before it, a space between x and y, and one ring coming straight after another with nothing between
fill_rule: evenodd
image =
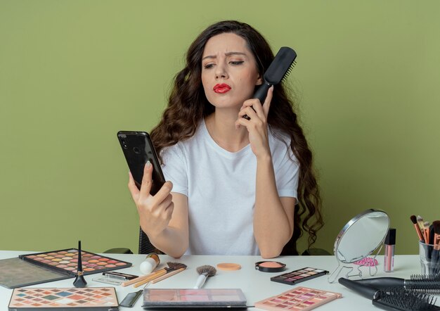
<instances>
[{"instance_id":1,"label":"round tabletop mirror on its small stand beside the lip gloss","mask_svg":"<svg viewBox=\"0 0 440 311\"><path fill-rule=\"evenodd\" d=\"M382 210L365 210L347 222L336 237L334 252L339 265L330 274L329 281L332 279L332 275L339 270L337 277L343 267L348 267L350 271L354 269L354 267L347 266L347 264L367 258L376 249L379 253L388 229L389 217ZM362 277L360 267L362 265L358 265L358 273L354 275ZM377 271L377 268L375 269ZM371 269L370 275L373 275ZM348 272L346 277L351 276Z\"/></svg>"}]
</instances>

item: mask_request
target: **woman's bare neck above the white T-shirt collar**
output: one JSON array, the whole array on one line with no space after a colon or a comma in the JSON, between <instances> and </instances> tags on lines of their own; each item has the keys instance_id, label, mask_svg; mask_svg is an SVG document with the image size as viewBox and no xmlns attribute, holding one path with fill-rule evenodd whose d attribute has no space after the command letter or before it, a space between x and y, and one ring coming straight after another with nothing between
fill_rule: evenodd
<instances>
[{"instance_id":1,"label":"woman's bare neck above the white T-shirt collar","mask_svg":"<svg viewBox=\"0 0 440 311\"><path fill-rule=\"evenodd\" d=\"M249 144L249 134L245 127L235 128L238 113L214 111L205 118L209 135L216 144L229 152L237 152Z\"/></svg>"}]
</instances>

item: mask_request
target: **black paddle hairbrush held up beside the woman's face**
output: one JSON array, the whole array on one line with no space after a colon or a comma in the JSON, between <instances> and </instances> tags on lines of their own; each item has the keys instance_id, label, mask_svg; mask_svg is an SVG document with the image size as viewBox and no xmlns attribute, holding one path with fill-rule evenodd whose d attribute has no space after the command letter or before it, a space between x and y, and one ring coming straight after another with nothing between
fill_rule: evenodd
<instances>
[{"instance_id":1,"label":"black paddle hairbrush held up beside the woman's face","mask_svg":"<svg viewBox=\"0 0 440 311\"><path fill-rule=\"evenodd\" d=\"M266 72L264 72L263 84L255 91L252 99L259 99L260 103L264 103L268 89L272 85L279 84L290 74L290 70L292 70L293 65L295 65L295 58L297 58L297 53L293 51L293 49L290 49L290 47L283 46L278 53L276 53L275 58L273 58ZM243 115L243 118L250 120L247 115Z\"/></svg>"}]
</instances>

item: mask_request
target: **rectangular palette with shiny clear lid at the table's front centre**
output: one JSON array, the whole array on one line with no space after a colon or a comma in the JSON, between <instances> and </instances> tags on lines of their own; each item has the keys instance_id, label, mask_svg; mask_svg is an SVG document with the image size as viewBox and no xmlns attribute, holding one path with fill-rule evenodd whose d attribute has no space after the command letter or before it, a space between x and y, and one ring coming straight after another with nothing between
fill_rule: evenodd
<instances>
[{"instance_id":1,"label":"rectangular palette with shiny clear lid at the table's front centre","mask_svg":"<svg viewBox=\"0 0 440 311\"><path fill-rule=\"evenodd\" d=\"M246 298L240 288L145 288L144 309L160 308L228 308L245 309Z\"/></svg>"}]
</instances>

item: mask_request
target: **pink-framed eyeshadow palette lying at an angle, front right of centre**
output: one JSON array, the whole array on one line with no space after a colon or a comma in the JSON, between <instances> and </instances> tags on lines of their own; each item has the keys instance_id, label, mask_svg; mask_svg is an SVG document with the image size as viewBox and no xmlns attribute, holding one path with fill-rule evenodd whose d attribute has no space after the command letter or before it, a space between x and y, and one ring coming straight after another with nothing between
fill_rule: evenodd
<instances>
[{"instance_id":1,"label":"pink-framed eyeshadow palette lying at an angle, front right of centre","mask_svg":"<svg viewBox=\"0 0 440 311\"><path fill-rule=\"evenodd\" d=\"M264 310L312 310L332 300L341 298L342 294L307 287L295 287L277 296L272 296L255 303L255 307Z\"/></svg>"}]
</instances>

